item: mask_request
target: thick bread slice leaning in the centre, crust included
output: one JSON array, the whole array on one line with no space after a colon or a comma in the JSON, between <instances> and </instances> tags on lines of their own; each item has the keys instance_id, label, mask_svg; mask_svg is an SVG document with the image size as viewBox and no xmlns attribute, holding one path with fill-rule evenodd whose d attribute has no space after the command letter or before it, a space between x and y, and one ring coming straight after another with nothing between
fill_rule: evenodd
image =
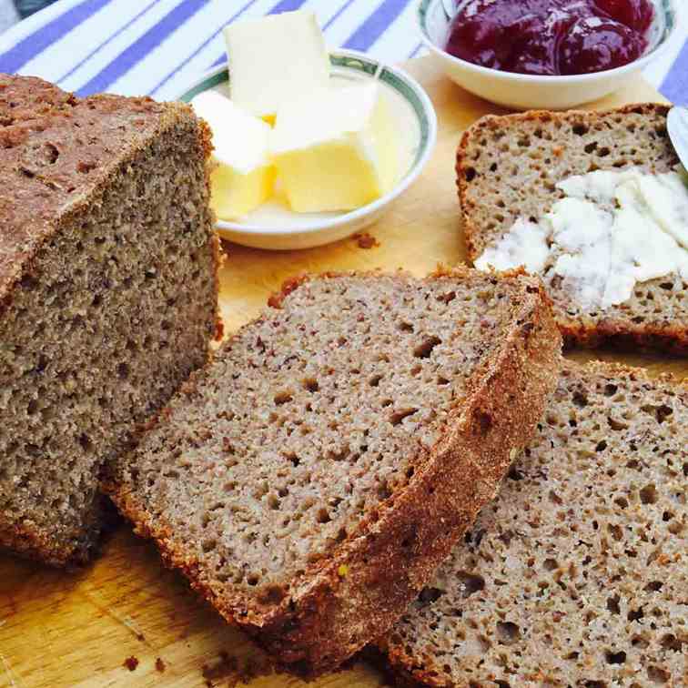
<instances>
[{"instance_id":1,"label":"thick bread slice leaning in the centre, crust included","mask_svg":"<svg viewBox=\"0 0 688 688\"><path fill-rule=\"evenodd\" d=\"M521 274L323 276L272 303L109 489L225 618L313 675L387 630L493 498L561 339Z\"/></svg>"}]
</instances>

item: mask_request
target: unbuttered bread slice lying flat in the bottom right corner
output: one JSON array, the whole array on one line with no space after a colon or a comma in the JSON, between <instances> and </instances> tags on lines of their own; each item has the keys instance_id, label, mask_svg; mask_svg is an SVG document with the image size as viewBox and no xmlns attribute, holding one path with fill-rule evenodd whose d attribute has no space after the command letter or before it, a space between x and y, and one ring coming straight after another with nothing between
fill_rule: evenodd
<instances>
[{"instance_id":1,"label":"unbuttered bread slice lying flat in the bottom right corner","mask_svg":"<svg viewBox=\"0 0 688 688\"><path fill-rule=\"evenodd\" d=\"M380 646L402 685L688 685L688 387L567 364L537 439Z\"/></svg>"}]
</instances>

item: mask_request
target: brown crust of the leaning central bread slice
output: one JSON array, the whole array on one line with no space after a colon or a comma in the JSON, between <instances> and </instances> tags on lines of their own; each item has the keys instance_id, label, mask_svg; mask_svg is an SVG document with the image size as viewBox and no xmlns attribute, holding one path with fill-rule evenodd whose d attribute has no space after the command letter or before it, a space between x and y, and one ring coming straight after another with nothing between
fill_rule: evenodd
<instances>
[{"instance_id":1,"label":"brown crust of the leaning central bread slice","mask_svg":"<svg viewBox=\"0 0 688 688\"><path fill-rule=\"evenodd\" d=\"M476 274L457 268L430 279L471 273ZM334 669L390 628L430 580L481 506L495 496L556 385L561 337L549 298L537 278L519 271L508 278L517 281L520 293L513 298L505 339L475 371L465 399L451 411L448 428L427 460L406 487L364 517L357 531L309 564L285 599L257 603L213 589L201 563L174 546L170 529L152 522L125 486L110 483L107 490L137 532L157 541L167 564L184 572L218 612L288 671L310 678ZM278 307L308 279L289 280L283 297L270 302ZM491 279L497 283L496 276ZM187 389L202 374L192 376Z\"/></svg>"}]
</instances>

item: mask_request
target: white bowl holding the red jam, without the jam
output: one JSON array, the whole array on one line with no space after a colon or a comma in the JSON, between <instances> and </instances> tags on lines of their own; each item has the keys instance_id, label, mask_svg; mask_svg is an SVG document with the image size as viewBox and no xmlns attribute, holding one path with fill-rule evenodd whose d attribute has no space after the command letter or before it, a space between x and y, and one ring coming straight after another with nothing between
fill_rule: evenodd
<instances>
[{"instance_id":1,"label":"white bowl holding the red jam, without the jam","mask_svg":"<svg viewBox=\"0 0 688 688\"><path fill-rule=\"evenodd\" d=\"M653 0L653 3L657 11L650 46L645 54L630 65L580 76L513 74L451 56L443 49L449 38L450 20L441 0L420 0L418 21L423 42L431 54L447 76L470 93L518 110L561 110L589 103L618 90L663 53L676 31L676 0Z\"/></svg>"}]
</instances>

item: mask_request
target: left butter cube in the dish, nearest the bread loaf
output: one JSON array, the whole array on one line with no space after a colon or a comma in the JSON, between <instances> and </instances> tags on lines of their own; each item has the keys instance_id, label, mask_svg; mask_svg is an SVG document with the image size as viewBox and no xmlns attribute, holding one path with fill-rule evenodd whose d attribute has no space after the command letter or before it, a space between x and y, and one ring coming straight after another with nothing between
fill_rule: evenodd
<instances>
[{"instance_id":1,"label":"left butter cube in the dish, nearest the bread loaf","mask_svg":"<svg viewBox=\"0 0 688 688\"><path fill-rule=\"evenodd\" d=\"M240 218L263 204L275 186L268 156L270 127L216 91L199 94L191 105L213 132L217 167L210 177L210 205L218 218Z\"/></svg>"}]
</instances>

